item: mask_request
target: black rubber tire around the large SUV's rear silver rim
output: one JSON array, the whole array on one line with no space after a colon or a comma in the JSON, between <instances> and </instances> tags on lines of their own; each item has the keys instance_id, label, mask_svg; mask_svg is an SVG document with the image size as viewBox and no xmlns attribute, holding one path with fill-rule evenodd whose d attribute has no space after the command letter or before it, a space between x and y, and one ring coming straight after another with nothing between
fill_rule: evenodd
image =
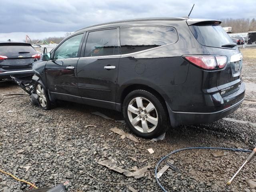
<instances>
[{"instance_id":1,"label":"black rubber tire around the large SUV's rear silver rim","mask_svg":"<svg viewBox=\"0 0 256 192\"><path fill-rule=\"evenodd\" d=\"M144 99L148 100L149 102L151 102L154 105L153 112L155 113L155 115L154 114L153 115L158 119L158 122L157 122L157 126L155 128L154 128L153 124L151 125L151 126L153 126L151 132L144 133L144 132L141 132L138 130L138 129L140 129L140 130L142 129L142 128L140 128L140 125L139 125L139 124L141 124L141 126L142 126L142 119L141 119L141 122L139 122L136 125L137 128L135 128L132 125L132 123L129 119L129 117L130 118L137 118L137 117L142 118L142 116L140 116L139 114L128 112L129 104L134 102L134 100L136 100L136 98L138 98L138 97L143 98L142 106L144 106L145 108L146 108L147 103L146 104L143 103ZM146 100L145 100L145 102L148 102ZM139 108L139 107L137 106L135 108ZM132 132L134 134L136 134L136 136L139 136L142 138L156 138L156 137L160 136L161 134L163 134L164 132L166 132L167 128L169 127L169 118L168 118L168 112L166 110L165 103L160 98L158 98L156 95L154 95L146 90L134 90L134 91L130 92L124 99L122 113L124 116L124 120L126 121L126 124L130 128L130 130L132 130ZM147 114L146 110L141 112L141 114L142 113L143 113L143 115ZM133 114L133 115L131 116L131 114ZM133 116L135 116L135 117L133 117ZM143 118L143 119L147 120L147 118L149 118L148 116L144 116L145 118ZM149 123L149 125L150 125L150 123ZM150 130L150 128L149 128L149 130Z\"/></svg>"}]
</instances>

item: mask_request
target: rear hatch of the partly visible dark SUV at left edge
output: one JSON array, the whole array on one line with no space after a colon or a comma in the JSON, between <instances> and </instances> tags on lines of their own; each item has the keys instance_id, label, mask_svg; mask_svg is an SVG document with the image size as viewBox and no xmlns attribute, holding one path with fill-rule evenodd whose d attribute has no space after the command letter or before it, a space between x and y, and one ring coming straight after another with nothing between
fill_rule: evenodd
<instances>
[{"instance_id":1,"label":"rear hatch of the partly visible dark SUV at left edge","mask_svg":"<svg viewBox=\"0 0 256 192\"><path fill-rule=\"evenodd\" d=\"M32 63L40 59L36 50L28 43L6 42L0 43L0 69L26 70L32 69Z\"/></svg>"}]
</instances>

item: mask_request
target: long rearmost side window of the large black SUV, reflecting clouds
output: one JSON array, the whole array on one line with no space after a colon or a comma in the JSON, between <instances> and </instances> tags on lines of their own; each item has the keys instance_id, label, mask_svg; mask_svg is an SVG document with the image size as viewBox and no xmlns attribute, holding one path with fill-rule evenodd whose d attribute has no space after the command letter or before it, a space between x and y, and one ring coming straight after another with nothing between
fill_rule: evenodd
<instances>
[{"instance_id":1,"label":"long rearmost side window of the large black SUV, reflecting clouds","mask_svg":"<svg viewBox=\"0 0 256 192\"><path fill-rule=\"evenodd\" d=\"M120 28L122 54L151 49L175 43L176 30L171 27L128 27Z\"/></svg>"}]
</instances>

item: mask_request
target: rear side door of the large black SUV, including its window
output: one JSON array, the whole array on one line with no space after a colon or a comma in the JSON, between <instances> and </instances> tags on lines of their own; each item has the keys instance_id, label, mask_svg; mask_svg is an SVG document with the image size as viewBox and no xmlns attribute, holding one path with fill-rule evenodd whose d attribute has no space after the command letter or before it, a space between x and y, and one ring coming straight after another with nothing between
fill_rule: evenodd
<instances>
[{"instance_id":1,"label":"rear side door of the large black SUV, including its window","mask_svg":"<svg viewBox=\"0 0 256 192\"><path fill-rule=\"evenodd\" d=\"M85 104L115 109L120 59L119 28L87 33L84 57L78 60L77 80Z\"/></svg>"}]
</instances>

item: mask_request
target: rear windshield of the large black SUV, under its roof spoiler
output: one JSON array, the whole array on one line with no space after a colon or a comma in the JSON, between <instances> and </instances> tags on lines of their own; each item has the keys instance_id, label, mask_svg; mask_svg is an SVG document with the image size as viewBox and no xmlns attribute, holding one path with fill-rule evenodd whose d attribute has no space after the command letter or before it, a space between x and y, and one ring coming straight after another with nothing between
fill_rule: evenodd
<instances>
[{"instance_id":1,"label":"rear windshield of the large black SUV, under its roof spoiler","mask_svg":"<svg viewBox=\"0 0 256 192\"><path fill-rule=\"evenodd\" d=\"M222 45L233 43L219 24L190 25L189 28L196 40L204 46L223 48Z\"/></svg>"}]
</instances>

